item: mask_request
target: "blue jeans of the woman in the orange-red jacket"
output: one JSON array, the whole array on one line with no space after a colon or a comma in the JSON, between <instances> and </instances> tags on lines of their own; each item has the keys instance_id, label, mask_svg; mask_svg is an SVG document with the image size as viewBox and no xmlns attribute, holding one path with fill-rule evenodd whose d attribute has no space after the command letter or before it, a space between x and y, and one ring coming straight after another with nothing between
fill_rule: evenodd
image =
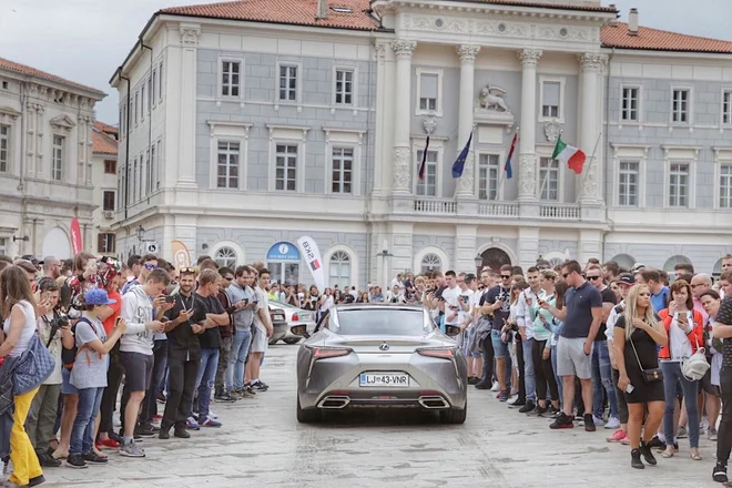
<instances>
[{"instance_id":1,"label":"blue jeans of the woman in the orange-red jacket","mask_svg":"<svg viewBox=\"0 0 732 488\"><path fill-rule=\"evenodd\" d=\"M699 393L699 382L690 382L681 374L681 363L662 362L663 372L663 397L665 408L663 409L663 435L665 445L673 446L673 407L677 403L677 386L681 382L683 389L683 399L687 405L687 418L689 421L689 447L699 447L699 408L697 406L697 394Z\"/></svg>"}]
</instances>

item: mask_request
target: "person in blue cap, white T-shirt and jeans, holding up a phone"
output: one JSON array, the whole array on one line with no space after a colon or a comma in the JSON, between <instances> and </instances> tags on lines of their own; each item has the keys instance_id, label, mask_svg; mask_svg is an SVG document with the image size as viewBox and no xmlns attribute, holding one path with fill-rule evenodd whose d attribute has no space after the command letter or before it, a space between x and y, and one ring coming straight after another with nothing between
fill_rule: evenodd
<instances>
[{"instance_id":1,"label":"person in blue cap, white T-shirt and jeans, holding up a phone","mask_svg":"<svg viewBox=\"0 0 732 488\"><path fill-rule=\"evenodd\" d=\"M126 331L124 318L116 321L106 336L100 314L115 304L105 289L94 288L84 294L84 311L74 327L77 357L71 369L70 383L79 390L79 406L71 430L71 444L67 466L85 468L87 462L104 464L105 456L94 453L94 423L106 387L109 353Z\"/></svg>"}]
</instances>

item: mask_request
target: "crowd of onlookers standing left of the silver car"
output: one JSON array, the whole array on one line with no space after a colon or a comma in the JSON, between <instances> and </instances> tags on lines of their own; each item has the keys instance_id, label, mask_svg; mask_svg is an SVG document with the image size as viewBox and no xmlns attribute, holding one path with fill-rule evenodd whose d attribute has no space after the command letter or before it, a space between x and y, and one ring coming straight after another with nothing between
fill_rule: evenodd
<instances>
[{"instance_id":1,"label":"crowd of onlookers standing left of the silver car","mask_svg":"<svg viewBox=\"0 0 732 488\"><path fill-rule=\"evenodd\" d=\"M260 372L274 288L262 263L231 270L207 256L180 270L152 254L0 256L9 482L38 486L43 468L103 465L108 449L140 458L146 437L221 427L212 394L234 403L268 389Z\"/></svg>"}]
</instances>

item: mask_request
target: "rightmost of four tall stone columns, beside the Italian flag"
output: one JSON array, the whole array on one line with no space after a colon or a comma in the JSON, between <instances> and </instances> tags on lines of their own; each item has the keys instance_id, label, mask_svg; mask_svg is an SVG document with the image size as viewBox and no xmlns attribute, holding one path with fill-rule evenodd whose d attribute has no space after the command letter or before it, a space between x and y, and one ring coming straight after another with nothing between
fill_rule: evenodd
<instances>
[{"instance_id":1,"label":"rightmost of four tall stone columns, beside the Italian flag","mask_svg":"<svg viewBox=\"0 0 732 488\"><path fill-rule=\"evenodd\" d=\"M577 57L581 65L580 96L582 112L580 118L579 148L587 154L584 170L580 177L580 197L582 204L599 203L599 167L596 149L600 138L600 106L598 105L598 73L607 62L604 54L588 52Z\"/></svg>"}]
</instances>

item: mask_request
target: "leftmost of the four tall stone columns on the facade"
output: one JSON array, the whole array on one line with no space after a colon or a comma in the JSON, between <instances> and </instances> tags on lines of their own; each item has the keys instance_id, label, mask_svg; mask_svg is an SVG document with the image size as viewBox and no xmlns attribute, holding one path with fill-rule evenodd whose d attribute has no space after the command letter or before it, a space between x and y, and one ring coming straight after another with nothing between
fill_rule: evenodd
<instances>
[{"instance_id":1,"label":"leftmost of the four tall stone columns on the facade","mask_svg":"<svg viewBox=\"0 0 732 488\"><path fill-rule=\"evenodd\" d=\"M410 193L411 148L409 126L411 125L411 54L417 42L397 39L392 42L396 53L396 103L394 104L394 194Z\"/></svg>"}]
</instances>

